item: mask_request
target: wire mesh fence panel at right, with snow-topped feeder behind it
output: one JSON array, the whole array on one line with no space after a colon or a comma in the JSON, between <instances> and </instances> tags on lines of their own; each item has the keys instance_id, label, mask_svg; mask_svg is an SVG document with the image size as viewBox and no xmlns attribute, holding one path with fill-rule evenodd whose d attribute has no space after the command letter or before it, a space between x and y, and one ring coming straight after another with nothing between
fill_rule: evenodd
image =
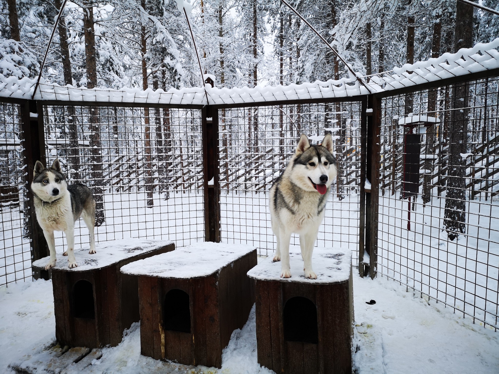
<instances>
[{"instance_id":1,"label":"wire mesh fence panel at right, with snow-topped feeder behind it","mask_svg":"<svg viewBox=\"0 0 499 374\"><path fill-rule=\"evenodd\" d=\"M499 78L382 101L378 272L498 329Z\"/></svg>"}]
</instances>

